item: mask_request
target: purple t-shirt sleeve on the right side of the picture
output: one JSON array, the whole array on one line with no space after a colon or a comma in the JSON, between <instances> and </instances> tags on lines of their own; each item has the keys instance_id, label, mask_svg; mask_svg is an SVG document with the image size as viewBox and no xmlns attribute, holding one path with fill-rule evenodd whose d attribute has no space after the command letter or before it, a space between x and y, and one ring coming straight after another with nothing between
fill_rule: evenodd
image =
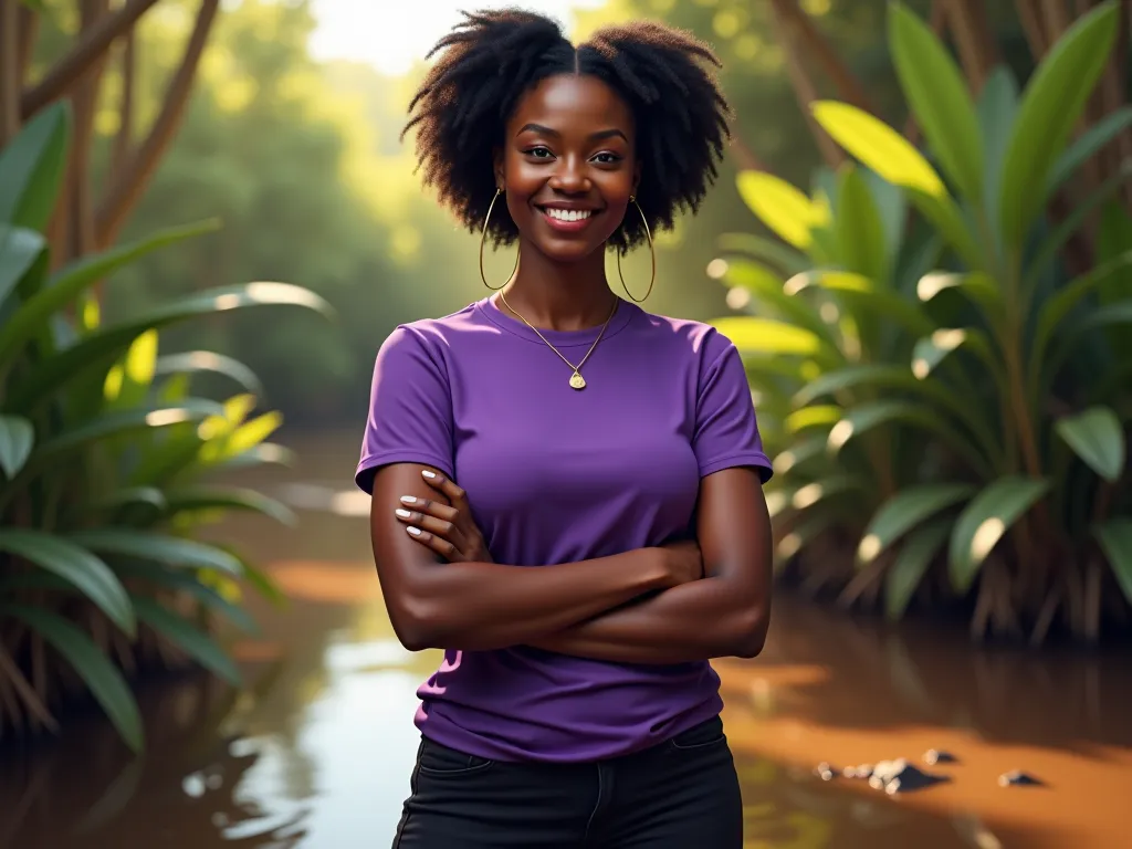
<instances>
[{"instance_id":1,"label":"purple t-shirt sleeve on the right side of the picture","mask_svg":"<svg viewBox=\"0 0 1132 849\"><path fill-rule=\"evenodd\" d=\"M763 452L743 360L724 336L713 333L709 342L713 344L705 345L692 443L700 477L734 466L753 466L765 483L772 468Z\"/></svg>"}]
</instances>

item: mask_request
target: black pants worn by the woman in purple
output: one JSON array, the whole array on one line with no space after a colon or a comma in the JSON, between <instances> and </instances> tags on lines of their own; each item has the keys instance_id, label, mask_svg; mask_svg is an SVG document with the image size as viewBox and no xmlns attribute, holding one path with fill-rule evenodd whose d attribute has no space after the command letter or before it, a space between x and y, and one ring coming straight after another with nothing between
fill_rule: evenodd
<instances>
[{"instance_id":1,"label":"black pants worn by the woman in purple","mask_svg":"<svg viewBox=\"0 0 1132 849\"><path fill-rule=\"evenodd\" d=\"M393 849L741 849L720 719L586 764L484 761L422 740Z\"/></svg>"}]
</instances>

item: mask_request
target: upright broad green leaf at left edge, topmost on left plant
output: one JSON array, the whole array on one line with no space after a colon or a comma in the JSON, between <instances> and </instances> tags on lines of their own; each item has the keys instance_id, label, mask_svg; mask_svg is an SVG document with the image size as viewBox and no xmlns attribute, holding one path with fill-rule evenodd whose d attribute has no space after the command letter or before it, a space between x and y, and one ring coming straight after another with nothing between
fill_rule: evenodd
<instances>
[{"instance_id":1,"label":"upright broad green leaf at left edge, topmost on left plant","mask_svg":"<svg viewBox=\"0 0 1132 849\"><path fill-rule=\"evenodd\" d=\"M70 130L70 102L55 101L0 148L0 224L46 229L67 166Z\"/></svg>"}]
</instances>

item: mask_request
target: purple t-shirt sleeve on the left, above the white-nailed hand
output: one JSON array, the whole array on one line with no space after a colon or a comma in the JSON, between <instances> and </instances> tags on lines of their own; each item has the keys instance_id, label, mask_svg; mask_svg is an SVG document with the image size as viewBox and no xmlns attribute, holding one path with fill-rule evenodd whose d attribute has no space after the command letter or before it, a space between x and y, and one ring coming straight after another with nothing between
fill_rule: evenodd
<instances>
[{"instance_id":1,"label":"purple t-shirt sleeve on the left, above the white-nailed hand","mask_svg":"<svg viewBox=\"0 0 1132 849\"><path fill-rule=\"evenodd\" d=\"M421 333L397 327L374 365L369 415L354 482L374 492L374 477L389 463L421 463L453 477L452 395L440 357Z\"/></svg>"}]
</instances>

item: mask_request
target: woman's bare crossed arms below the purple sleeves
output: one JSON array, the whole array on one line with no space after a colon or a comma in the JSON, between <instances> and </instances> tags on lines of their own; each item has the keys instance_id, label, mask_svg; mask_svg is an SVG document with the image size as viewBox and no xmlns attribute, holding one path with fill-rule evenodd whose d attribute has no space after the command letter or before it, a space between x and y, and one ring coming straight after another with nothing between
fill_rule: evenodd
<instances>
[{"instance_id":1,"label":"woman's bare crossed arms below the purple sleeves","mask_svg":"<svg viewBox=\"0 0 1132 849\"><path fill-rule=\"evenodd\" d=\"M393 512L405 495L437 499L421 470L413 464L380 469L370 516L383 594L406 648L529 644L633 663L749 658L762 650L770 623L771 530L755 471L727 469L701 481L701 577L688 572L686 552L663 548L533 569L500 566L468 539L470 530L448 534L456 537L453 551L461 556L441 558L427 543L444 548L452 542L406 533L411 525ZM434 486L445 483L462 497L431 471ZM466 504L458 500L446 515L463 506L461 522L449 524L466 530ZM475 559L464 559L461 548Z\"/></svg>"}]
</instances>

